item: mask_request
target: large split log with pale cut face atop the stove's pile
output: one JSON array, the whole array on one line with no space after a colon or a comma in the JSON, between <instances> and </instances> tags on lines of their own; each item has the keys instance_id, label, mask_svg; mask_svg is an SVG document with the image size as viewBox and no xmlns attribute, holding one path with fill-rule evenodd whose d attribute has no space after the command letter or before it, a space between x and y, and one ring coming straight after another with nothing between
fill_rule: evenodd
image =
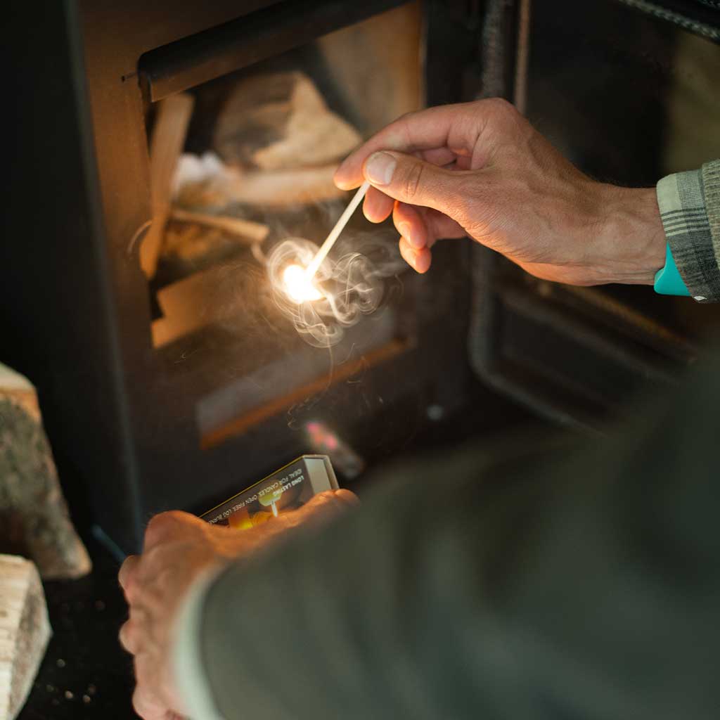
<instances>
[{"instance_id":1,"label":"large split log with pale cut face atop the stove's pile","mask_svg":"<svg viewBox=\"0 0 720 720\"><path fill-rule=\"evenodd\" d=\"M238 83L218 117L214 144L226 163L279 171L336 163L360 142L307 75L289 72Z\"/></svg>"}]
</instances>

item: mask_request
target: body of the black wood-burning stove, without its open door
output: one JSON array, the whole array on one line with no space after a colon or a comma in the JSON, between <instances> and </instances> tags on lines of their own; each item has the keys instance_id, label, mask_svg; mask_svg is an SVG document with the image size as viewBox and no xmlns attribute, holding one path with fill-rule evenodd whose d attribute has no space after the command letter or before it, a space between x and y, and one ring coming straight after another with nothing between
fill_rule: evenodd
<instances>
[{"instance_id":1,"label":"body of the black wood-burning stove, without its open door","mask_svg":"<svg viewBox=\"0 0 720 720\"><path fill-rule=\"evenodd\" d=\"M348 120L356 125L364 121L366 134L403 102L406 109L421 102L420 6L131 0L65 9L54 35L47 30L65 63L58 73L65 71L70 94L61 110L68 125L76 124L63 143L75 143L82 163L71 175L79 178L75 216L60 230L76 245L50 248L36 268L49 304L23 301L22 332L42 338L47 364L30 348L35 359L17 364L39 385L60 469L83 481L89 515L104 536L123 550L138 549L150 514L207 510L307 451L307 423L352 438L372 460L407 441L426 421L428 405L461 402L471 377L467 364L457 365L467 333L469 274L459 271L467 266L467 247L447 248L430 278L391 278L382 312L349 328L329 350L304 343L273 312L264 269L247 253L205 269L199 295L183 296L228 312L161 337L157 323L168 313L162 293L171 282L158 276L148 282L140 266L152 232L148 135L158 103L181 91L194 94L187 143L202 152L203 113L228 77L247 78L253 73L247 68L258 67L301 71L320 87L335 68L334 86L365 86L364 97L353 109L340 93L333 97L328 82L329 90L320 87L324 99L338 114L354 113ZM380 32L384 49L357 33L345 36L350 40L332 35L372 18L374 27L357 27L362 37ZM395 32L401 27L392 44L382 42L389 24ZM353 37L356 45L343 48ZM374 78L372 56L343 62L343 53L357 53L362 42L376 42L377 53L389 58ZM413 43L414 55L407 49ZM393 86L389 78L400 64L409 79ZM322 239L317 233L327 232L335 210L331 204L311 210L294 220L284 215L288 234ZM273 220L272 213L265 211L263 220ZM372 230L361 219L356 225ZM387 228L379 233L382 240ZM66 273L58 273L59 256L71 265ZM27 267L27 258L22 262ZM449 367L453 372L443 372Z\"/></svg>"}]
</instances>

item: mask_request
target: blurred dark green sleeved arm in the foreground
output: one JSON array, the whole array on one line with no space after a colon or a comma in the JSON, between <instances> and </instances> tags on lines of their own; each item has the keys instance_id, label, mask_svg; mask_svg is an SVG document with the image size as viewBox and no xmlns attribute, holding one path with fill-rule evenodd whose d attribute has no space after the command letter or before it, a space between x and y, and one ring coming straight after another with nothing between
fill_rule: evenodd
<instances>
[{"instance_id":1,"label":"blurred dark green sleeved arm in the foreground","mask_svg":"<svg viewBox=\"0 0 720 720\"><path fill-rule=\"evenodd\" d=\"M615 439L385 473L359 512L202 591L176 641L191 716L713 717L719 407L712 367Z\"/></svg>"}]
</instances>

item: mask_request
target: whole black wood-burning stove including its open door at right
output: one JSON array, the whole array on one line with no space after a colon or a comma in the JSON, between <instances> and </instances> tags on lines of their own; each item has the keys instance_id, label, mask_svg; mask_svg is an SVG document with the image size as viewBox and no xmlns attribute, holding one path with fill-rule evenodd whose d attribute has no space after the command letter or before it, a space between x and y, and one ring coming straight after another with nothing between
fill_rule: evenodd
<instances>
[{"instance_id":1,"label":"whole black wood-burning stove including its open door at right","mask_svg":"<svg viewBox=\"0 0 720 720\"><path fill-rule=\"evenodd\" d=\"M606 24L613 18L611 27L624 17L647 25L647 42L634 60L669 53L678 32L687 31L683 19L698 23L690 28L696 32L720 26L712 3L627 4L636 7L587 5ZM652 181L657 168L634 172L644 162L639 156L625 174L615 172L618 166L611 174L585 152L609 127L602 107L593 108L597 122L585 132L577 127L582 112L544 102L547 78L564 81L572 109L585 107L589 76L583 73L592 68L573 66L571 58L559 63L554 55L573 33L603 42L606 25L597 18L588 24L585 5L572 10L564 0L538 0L528 14L527 0L68 0L40 17L14 9L22 27L32 19L35 35L18 36L12 46L19 63L9 93L29 119L16 145L17 164L27 174L17 187L24 192L12 199L27 207L34 199L27 189L37 193L38 181L52 178L53 187L41 189L51 190L53 202L52 212L33 203L4 248L12 268L3 287L4 357L37 385L60 471L66 483L81 481L88 516L104 536L123 550L138 549L151 513L207 510L307 451L307 423L326 423L371 460L395 452L427 421L428 407L436 408L431 417L439 416L437 408L464 408L472 400L472 369L546 415L593 425L640 381L664 381L692 359L693 323L678 321L672 301L652 298L649 307L647 289L581 292L536 283L469 243L442 247L428 276L406 273L389 283L385 311L348 331L332 356L303 343L253 295L264 275L251 258L216 266L198 291L207 298L238 289L245 294L233 296L236 306L229 307L228 292L220 293L228 312L168 342L158 341L155 326L153 339L153 323L167 312L159 293L171 284L157 276L148 282L140 266L153 217L148 129L158 103L179 92L194 95L187 142L202 153L203 113L212 114L213 89L228 77L262 66L302 71L322 85L334 70L325 101L369 132L390 120L379 108L393 114L412 102L407 87L390 82L395 66L408 69L409 51L402 63L395 58L383 69L372 65L372 53L358 55L337 36L330 52L322 38L372 25L373 18L377 30L391 22L387 13L400 12L397 32L405 40L413 35L419 51L416 101L515 96L586 171ZM641 6L659 12L642 14ZM670 40L658 44L653 32L667 32ZM630 40L608 35L604 42L618 48ZM384 52L395 48L387 38L380 45ZM351 63L343 62L352 53ZM615 71L621 68L618 63ZM333 87L349 84L372 87L375 94L366 95L372 102L353 107L341 92L333 94ZM617 118L612 122L618 127ZM623 122L619 132L603 135L607 143L632 132L650 143L652 133L637 132L632 117ZM297 217L287 230L320 240L333 212ZM21 241L28 223L32 244Z\"/></svg>"}]
</instances>

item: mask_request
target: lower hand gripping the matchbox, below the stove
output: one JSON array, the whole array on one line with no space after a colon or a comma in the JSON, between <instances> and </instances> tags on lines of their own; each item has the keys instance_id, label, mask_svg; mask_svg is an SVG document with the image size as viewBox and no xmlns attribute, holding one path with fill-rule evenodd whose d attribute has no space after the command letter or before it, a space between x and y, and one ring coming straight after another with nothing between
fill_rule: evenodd
<instances>
[{"instance_id":1,"label":"lower hand gripping the matchbox, below the stove","mask_svg":"<svg viewBox=\"0 0 720 720\"><path fill-rule=\"evenodd\" d=\"M132 705L138 715L172 720L183 714L172 678L171 631L188 588L201 572L268 546L302 524L327 521L356 503L349 490L321 492L299 510L245 531L181 512L154 517L145 531L143 554L128 557L119 576L130 606L120 642L135 655Z\"/></svg>"}]
</instances>

